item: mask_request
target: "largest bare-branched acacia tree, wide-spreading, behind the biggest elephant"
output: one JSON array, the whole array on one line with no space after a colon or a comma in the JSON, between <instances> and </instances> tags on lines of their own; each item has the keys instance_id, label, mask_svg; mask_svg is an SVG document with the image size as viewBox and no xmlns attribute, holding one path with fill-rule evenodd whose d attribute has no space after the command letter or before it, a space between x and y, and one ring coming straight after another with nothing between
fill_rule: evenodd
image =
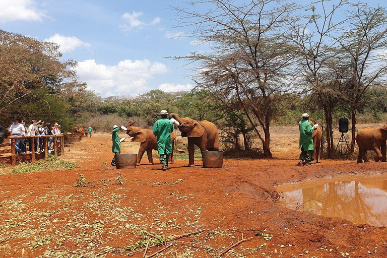
<instances>
[{"instance_id":1,"label":"largest bare-branched acacia tree, wide-spreading, behind the biggest elephant","mask_svg":"<svg viewBox=\"0 0 387 258\"><path fill-rule=\"evenodd\" d=\"M296 19L292 13L298 7L277 0L242 6L234 3L197 1L189 3L189 8L175 8L178 26L193 28L190 36L208 44L209 49L174 58L196 63L199 87L239 102L240 111L262 141L265 156L271 158L270 123L279 97L287 89L294 61L289 40L283 35L290 20ZM199 11L203 8L207 11Z\"/></svg>"}]
</instances>

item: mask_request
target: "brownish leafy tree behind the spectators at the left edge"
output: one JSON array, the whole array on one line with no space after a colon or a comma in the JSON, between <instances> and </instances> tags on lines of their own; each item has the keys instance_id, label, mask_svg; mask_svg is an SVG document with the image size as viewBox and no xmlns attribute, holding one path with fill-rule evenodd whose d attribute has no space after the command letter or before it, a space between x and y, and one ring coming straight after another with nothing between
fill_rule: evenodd
<instances>
[{"instance_id":1,"label":"brownish leafy tree behind the spectators at the left edge","mask_svg":"<svg viewBox=\"0 0 387 258\"><path fill-rule=\"evenodd\" d=\"M55 43L0 30L0 118L5 123L11 115L26 114L21 103L41 103L44 111L50 112L50 105L57 98L46 96L67 98L86 86L78 82L75 61L59 60L58 47Z\"/></svg>"}]
</instances>

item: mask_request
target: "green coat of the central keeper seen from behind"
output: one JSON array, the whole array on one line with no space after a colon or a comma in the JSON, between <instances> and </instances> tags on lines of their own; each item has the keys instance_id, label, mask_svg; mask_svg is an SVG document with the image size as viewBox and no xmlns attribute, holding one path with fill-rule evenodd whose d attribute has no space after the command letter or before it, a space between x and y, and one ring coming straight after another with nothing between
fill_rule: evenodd
<instances>
[{"instance_id":1,"label":"green coat of the central keeper seen from behind","mask_svg":"<svg viewBox=\"0 0 387 258\"><path fill-rule=\"evenodd\" d=\"M171 133L174 126L168 118L161 118L153 125L153 134L157 137L157 151L159 154L171 154Z\"/></svg>"}]
</instances>

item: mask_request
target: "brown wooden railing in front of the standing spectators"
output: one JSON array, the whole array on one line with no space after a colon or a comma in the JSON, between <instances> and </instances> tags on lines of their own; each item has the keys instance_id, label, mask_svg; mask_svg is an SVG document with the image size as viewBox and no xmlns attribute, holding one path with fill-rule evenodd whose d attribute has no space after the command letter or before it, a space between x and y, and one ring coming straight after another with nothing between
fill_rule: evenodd
<instances>
[{"instance_id":1,"label":"brown wooden railing in front of the standing spectators","mask_svg":"<svg viewBox=\"0 0 387 258\"><path fill-rule=\"evenodd\" d=\"M60 150L60 154L63 154L63 147L64 147L64 141L63 141L63 135L45 135L45 136L10 136L8 139L11 140L11 164L16 165L16 139L31 139L29 144L29 154L23 154L23 155L31 155L31 162L35 163L35 140L34 138L44 138L44 159L47 159L48 155L48 142L49 139L52 138L52 144L53 144L53 153L55 156L58 156L58 150ZM58 142L56 141L58 140Z\"/></svg>"}]
</instances>

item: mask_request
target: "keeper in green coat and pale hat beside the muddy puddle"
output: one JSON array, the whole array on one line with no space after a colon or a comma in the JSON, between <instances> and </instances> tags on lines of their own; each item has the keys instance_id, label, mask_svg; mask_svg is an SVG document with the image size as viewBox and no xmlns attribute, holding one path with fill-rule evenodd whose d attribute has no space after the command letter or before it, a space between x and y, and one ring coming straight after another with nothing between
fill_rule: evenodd
<instances>
[{"instance_id":1,"label":"keeper in green coat and pale hat beside the muddy puddle","mask_svg":"<svg viewBox=\"0 0 387 258\"><path fill-rule=\"evenodd\" d=\"M312 134L314 130L317 130L319 123L316 123L313 127L309 122L309 115L307 113L302 114L302 120L298 123L300 128L300 165L310 165L311 154L314 149Z\"/></svg>"}]
</instances>

